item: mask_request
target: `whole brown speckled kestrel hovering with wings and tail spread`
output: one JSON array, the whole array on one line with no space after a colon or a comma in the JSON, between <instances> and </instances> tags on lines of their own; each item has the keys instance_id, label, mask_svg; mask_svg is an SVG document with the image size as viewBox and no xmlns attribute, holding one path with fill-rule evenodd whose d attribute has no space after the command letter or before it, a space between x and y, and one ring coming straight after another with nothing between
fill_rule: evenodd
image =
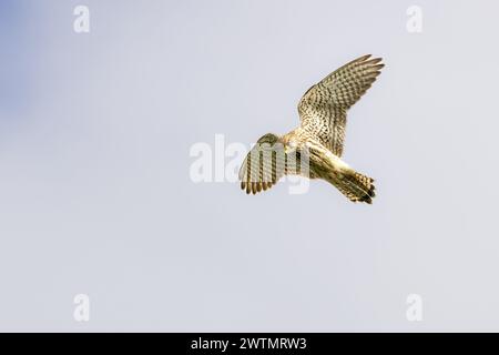
<instances>
[{"instance_id":1,"label":"whole brown speckled kestrel hovering with wings and tail spread","mask_svg":"<svg viewBox=\"0 0 499 355\"><path fill-rule=\"evenodd\" d=\"M301 124L278 136L258 139L240 170L241 189L256 194L284 175L323 179L353 202L373 203L374 180L340 158L348 109L370 88L384 67L381 58L357 58L308 89L298 103Z\"/></svg>"}]
</instances>

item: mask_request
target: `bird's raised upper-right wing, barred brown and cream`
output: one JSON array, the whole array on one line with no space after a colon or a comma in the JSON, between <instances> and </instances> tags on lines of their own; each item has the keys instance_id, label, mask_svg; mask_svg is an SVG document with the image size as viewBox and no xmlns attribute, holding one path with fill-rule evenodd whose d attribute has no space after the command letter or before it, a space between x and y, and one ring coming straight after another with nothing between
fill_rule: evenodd
<instances>
[{"instance_id":1,"label":"bird's raised upper-right wing, barred brown and cream","mask_svg":"<svg viewBox=\"0 0 499 355\"><path fill-rule=\"evenodd\" d=\"M298 103L302 128L342 156L346 112L370 88L384 64L370 54L337 69L305 92Z\"/></svg>"}]
</instances>

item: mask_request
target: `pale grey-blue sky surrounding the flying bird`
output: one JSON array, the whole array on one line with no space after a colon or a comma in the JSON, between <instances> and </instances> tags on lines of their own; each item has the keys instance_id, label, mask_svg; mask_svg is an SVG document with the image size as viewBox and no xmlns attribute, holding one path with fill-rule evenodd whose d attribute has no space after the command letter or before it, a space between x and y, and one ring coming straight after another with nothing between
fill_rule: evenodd
<instances>
[{"instance_id":1,"label":"pale grey-blue sky surrounding the flying bird","mask_svg":"<svg viewBox=\"0 0 499 355\"><path fill-rule=\"evenodd\" d=\"M0 329L499 331L498 13L1 1ZM192 182L194 143L289 131L305 90L365 53L386 68L349 112L344 159L376 179L373 205L325 182Z\"/></svg>"}]
</instances>

